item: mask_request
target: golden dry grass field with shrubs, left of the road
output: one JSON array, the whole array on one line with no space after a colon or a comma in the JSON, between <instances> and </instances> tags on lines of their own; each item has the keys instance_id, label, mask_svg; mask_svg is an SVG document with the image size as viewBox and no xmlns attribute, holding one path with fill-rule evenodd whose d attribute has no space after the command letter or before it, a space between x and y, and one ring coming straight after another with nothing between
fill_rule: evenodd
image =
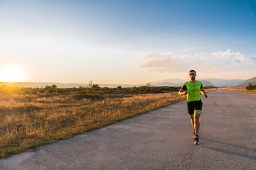
<instances>
[{"instance_id":1,"label":"golden dry grass field with shrubs, left of the road","mask_svg":"<svg viewBox=\"0 0 256 170\"><path fill-rule=\"evenodd\" d=\"M47 145L182 101L180 87L0 87L0 157ZM206 91L213 87L206 87Z\"/></svg>"}]
</instances>

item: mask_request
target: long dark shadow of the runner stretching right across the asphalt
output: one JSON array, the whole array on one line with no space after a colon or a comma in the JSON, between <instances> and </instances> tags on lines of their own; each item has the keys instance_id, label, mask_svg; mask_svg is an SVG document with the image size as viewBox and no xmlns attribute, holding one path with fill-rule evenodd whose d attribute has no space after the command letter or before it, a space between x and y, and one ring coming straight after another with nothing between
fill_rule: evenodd
<instances>
[{"instance_id":1,"label":"long dark shadow of the runner stretching right across the asphalt","mask_svg":"<svg viewBox=\"0 0 256 170\"><path fill-rule=\"evenodd\" d=\"M206 139L200 138L200 140L206 140ZM218 142L218 141L214 141L214 140L207 140L207 141L220 143L220 144L223 144L223 145L229 145L229 146L233 146L233 147L240 147L240 146L231 145L231 144L228 144L228 143ZM245 158L248 158L248 159L256 160L256 156L250 156L250 155L247 155L247 154L240 154L238 152L232 152L232 151L228 151L228 150L224 150L224 149L218 149L218 148L214 148L214 147L206 147L206 146L203 146L203 145L201 145L201 147L204 147L204 148L207 148L207 149L212 149L212 150L215 150L215 151L218 151L218 152L223 152L225 154L233 154L233 155L236 155L236 156L239 156L239 157L245 157ZM248 149L248 150L252 150L253 152L256 152L256 149L250 149L250 148L247 148L247 147L240 147L240 148Z\"/></svg>"}]
</instances>

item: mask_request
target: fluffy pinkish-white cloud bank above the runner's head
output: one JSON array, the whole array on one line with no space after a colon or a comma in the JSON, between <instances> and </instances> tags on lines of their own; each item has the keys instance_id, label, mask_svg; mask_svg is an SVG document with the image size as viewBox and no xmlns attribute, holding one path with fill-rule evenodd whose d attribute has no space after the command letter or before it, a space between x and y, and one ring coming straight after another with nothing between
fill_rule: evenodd
<instances>
[{"instance_id":1,"label":"fluffy pinkish-white cloud bank above the runner's head","mask_svg":"<svg viewBox=\"0 0 256 170\"><path fill-rule=\"evenodd\" d=\"M186 54L174 57L171 53L149 53L143 58L146 62L139 65L139 68L146 68L146 72L153 73L188 72L190 69L205 73L256 69L256 57L246 59L242 53L230 52L230 49L226 52L213 52L212 55L196 54L194 57L188 57Z\"/></svg>"}]
</instances>

